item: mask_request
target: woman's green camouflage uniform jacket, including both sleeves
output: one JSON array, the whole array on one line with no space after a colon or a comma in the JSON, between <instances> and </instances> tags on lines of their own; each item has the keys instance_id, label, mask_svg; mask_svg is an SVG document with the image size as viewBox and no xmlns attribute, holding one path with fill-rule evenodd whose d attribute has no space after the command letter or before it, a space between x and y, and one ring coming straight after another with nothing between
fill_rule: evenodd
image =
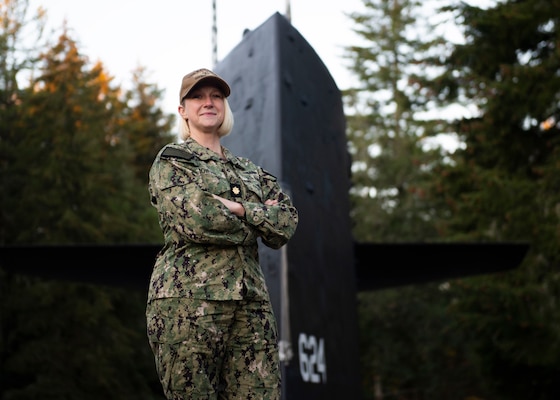
<instances>
[{"instance_id":1,"label":"woman's green camouflage uniform jacket, including both sleeves","mask_svg":"<svg viewBox=\"0 0 560 400\"><path fill-rule=\"evenodd\" d=\"M192 138L168 144L150 169L149 192L164 236L148 301L166 297L268 299L257 238L273 249L294 234L297 210L277 179L222 147L226 159ZM212 194L237 201L231 213ZM267 199L278 199L266 206Z\"/></svg>"}]
</instances>

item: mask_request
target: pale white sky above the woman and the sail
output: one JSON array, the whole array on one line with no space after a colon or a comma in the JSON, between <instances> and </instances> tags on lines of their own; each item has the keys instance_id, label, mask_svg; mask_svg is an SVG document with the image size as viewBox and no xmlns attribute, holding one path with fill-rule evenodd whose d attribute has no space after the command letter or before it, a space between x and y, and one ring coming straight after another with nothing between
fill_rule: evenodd
<instances>
[{"instance_id":1,"label":"pale white sky above the woman and the sail","mask_svg":"<svg viewBox=\"0 0 560 400\"><path fill-rule=\"evenodd\" d=\"M286 14L288 0L216 0L218 62L274 13ZM340 89L352 76L342 58L355 42L348 13L363 11L363 0L291 0L291 23L309 42ZM164 90L161 107L176 113L183 75L213 67L212 0L29 0L30 11L47 11L48 27L66 22L78 49L101 61L114 82L130 87L132 71L147 70L146 81ZM55 37L53 37L54 40Z\"/></svg>"}]
</instances>

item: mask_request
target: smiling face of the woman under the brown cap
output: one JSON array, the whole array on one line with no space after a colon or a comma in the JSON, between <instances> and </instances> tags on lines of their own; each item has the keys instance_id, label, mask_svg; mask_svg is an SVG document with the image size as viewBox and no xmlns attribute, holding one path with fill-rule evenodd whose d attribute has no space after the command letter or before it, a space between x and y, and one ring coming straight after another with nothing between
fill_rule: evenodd
<instances>
[{"instance_id":1,"label":"smiling face of the woman under the brown cap","mask_svg":"<svg viewBox=\"0 0 560 400\"><path fill-rule=\"evenodd\" d=\"M216 132L225 115L224 95L214 86L195 87L179 106L179 114L188 120L189 129L193 131Z\"/></svg>"}]
</instances>

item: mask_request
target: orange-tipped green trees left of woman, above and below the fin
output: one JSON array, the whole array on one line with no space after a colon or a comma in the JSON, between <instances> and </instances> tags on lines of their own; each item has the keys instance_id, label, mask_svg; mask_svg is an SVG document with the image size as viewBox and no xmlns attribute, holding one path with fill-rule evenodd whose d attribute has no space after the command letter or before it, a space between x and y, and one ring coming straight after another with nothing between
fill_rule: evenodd
<instances>
[{"instance_id":1,"label":"orange-tipped green trees left of woman, above and below the fin","mask_svg":"<svg viewBox=\"0 0 560 400\"><path fill-rule=\"evenodd\" d=\"M65 29L52 45L30 42L23 32L40 33L45 14L27 12L26 0L0 7L0 244L161 242L147 190L151 160L174 139L161 92L141 72L131 91L114 86ZM0 398L163 398L145 293L2 266Z\"/></svg>"}]
</instances>

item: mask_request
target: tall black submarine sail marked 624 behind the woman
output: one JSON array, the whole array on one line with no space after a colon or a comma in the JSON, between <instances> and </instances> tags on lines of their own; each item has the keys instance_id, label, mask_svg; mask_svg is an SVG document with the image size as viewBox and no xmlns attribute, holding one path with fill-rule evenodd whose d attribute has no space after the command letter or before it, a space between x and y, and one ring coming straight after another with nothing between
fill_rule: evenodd
<instances>
[{"instance_id":1,"label":"tall black submarine sail marked 624 behind the woman","mask_svg":"<svg viewBox=\"0 0 560 400\"><path fill-rule=\"evenodd\" d=\"M356 276L350 232L350 157L342 98L317 53L282 15L272 15L220 62L235 126L224 145L277 176L300 214L281 252L263 249L277 315L289 300L294 358L286 399L359 398ZM284 289L289 293L289 299ZM283 297L284 296L284 297ZM284 303L283 303L284 301Z\"/></svg>"}]
</instances>

